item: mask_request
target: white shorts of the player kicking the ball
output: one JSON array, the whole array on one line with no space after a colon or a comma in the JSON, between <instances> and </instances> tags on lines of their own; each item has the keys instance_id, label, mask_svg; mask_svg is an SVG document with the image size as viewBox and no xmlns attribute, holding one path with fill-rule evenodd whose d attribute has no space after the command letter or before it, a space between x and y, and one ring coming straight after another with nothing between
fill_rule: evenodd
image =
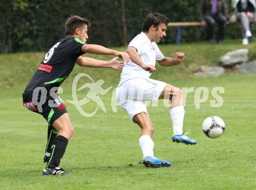
<instances>
[{"instance_id":1,"label":"white shorts of the player kicking the ball","mask_svg":"<svg viewBox=\"0 0 256 190\"><path fill-rule=\"evenodd\" d=\"M165 82L150 78L129 79L119 84L116 100L133 120L136 114L148 114L145 100L157 101L165 86Z\"/></svg>"}]
</instances>

